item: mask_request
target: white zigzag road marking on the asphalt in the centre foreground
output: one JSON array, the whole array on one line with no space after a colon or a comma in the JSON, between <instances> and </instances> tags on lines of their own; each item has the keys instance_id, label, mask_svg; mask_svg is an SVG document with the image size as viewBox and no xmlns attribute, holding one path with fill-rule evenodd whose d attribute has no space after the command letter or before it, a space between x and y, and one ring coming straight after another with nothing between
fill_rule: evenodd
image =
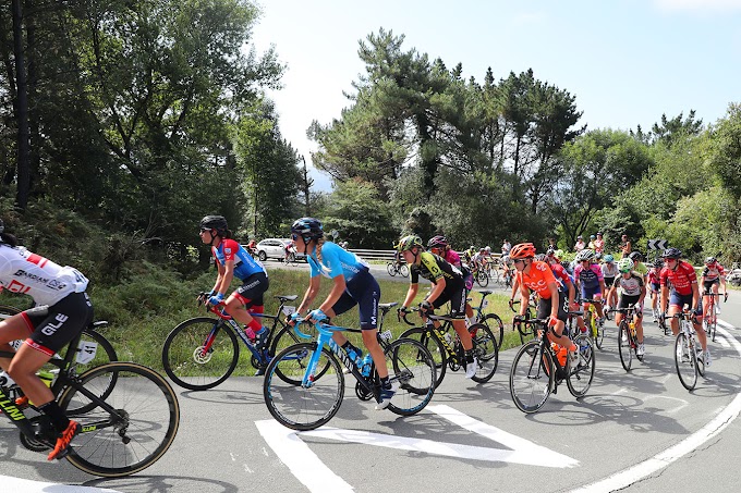
<instances>
[{"instance_id":1,"label":"white zigzag road marking on the asphalt in the centre foreground","mask_svg":"<svg viewBox=\"0 0 741 493\"><path fill-rule=\"evenodd\" d=\"M314 436L339 442L361 443L379 447L413 451L471 460L514 463L527 466L570 468L579 466L575 460L520 436L513 435L485 422L471 418L450 406L427 406L427 409L459 427L495 441L508 448L462 445L425 439L410 439L368 431L343 430L321 427L317 430L296 432L275 420L255 421L263 439L280 460L312 492L353 491L342 478L335 474L308 446L302 436Z\"/></svg>"}]
</instances>

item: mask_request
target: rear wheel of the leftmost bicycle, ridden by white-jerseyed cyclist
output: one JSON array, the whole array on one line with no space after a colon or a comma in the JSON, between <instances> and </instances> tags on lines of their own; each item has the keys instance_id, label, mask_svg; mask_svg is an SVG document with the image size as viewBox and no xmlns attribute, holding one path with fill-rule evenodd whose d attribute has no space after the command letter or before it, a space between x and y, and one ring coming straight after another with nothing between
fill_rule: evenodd
<instances>
[{"instance_id":1,"label":"rear wheel of the leftmost bicycle, ridden by white-jerseyed cyclist","mask_svg":"<svg viewBox=\"0 0 741 493\"><path fill-rule=\"evenodd\" d=\"M95 399L68 386L60 397L62 409L86 408L73 418L82 426L66 459L77 469L106 478L138 472L157 461L170 447L180 424L178 397L155 370L132 362L111 362L83 373L82 386L100 395L109 412Z\"/></svg>"}]
</instances>

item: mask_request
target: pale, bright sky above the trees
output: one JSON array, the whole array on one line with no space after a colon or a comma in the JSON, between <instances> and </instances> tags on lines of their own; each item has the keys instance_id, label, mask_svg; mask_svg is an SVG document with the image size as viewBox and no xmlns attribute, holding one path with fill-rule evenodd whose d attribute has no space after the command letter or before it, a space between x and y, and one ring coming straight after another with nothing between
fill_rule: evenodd
<instances>
[{"instance_id":1,"label":"pale, bright sky above the trees","mask_svg":"<svg viewBox=\"0 0 741 493\"><path fill-rule=\"evenodd\" d=\"M575 96L587 130L644 130L695 110L712 124L741 102L741 0L257 0L257 53L275 46L287 65L276 102L280 131L306 158L313 120L351 104L364 71L359 41L382 27L463 76L483 82L533 69ZM315 188L331 181L312 172Z\"/></svg>"}]
</instances>

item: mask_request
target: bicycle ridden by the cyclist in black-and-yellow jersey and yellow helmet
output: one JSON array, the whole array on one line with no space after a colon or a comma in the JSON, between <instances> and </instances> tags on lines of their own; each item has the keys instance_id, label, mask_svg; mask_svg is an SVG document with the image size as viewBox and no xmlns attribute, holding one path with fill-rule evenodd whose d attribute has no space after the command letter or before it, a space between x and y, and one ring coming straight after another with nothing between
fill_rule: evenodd
<instances>
[{"instance_id":1,"label":"bicycle ridden by the cyclist in black-and-yellow jersey and yellow helmet","mask_svg":"<svg viewBox=\"0 0 741 493\"><path fill-rule=\"evenodd\" d=\"M418 312L420 309L414 308L411 311ZM408 325L414 325L414 322L410 322L406 318L409 312L399 311L398 313L399 318L403 319ZM433 313L427 313L426 317L427 321L424 325L409 329L402 332L400 337L417 341L429 350L437 368L437 380L435 382L437 387L442 382L447 368L450 368L450 371L465 369L464 349L453 329L452 318ZM435 325L436 321L441 322L439 328ZM497 338L491 330L483 323L470 325L469 333L473 342L473 355L478 361L476 373L472 377L472 380L477 383L486 383L491 380L499 363Z\"/></svg>"}]
</instances>

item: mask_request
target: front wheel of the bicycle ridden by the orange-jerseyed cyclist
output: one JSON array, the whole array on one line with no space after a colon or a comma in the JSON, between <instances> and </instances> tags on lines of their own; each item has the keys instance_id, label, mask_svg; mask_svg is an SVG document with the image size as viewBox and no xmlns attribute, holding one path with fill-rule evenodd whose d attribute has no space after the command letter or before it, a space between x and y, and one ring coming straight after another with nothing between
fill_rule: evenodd
<instances>
[{"instance_id":1,"label":"front wheel of the bicycle ridden by the orange-jerseyed cyclist","mask_svg":"<svg viewBox=\"0 0 741 493\"><path fill-rule=\"evenodd\" d=\"M531 341L520 348L510 370L510 394L523 412L535 412L543 407L554 389L554 361L543 352L539 341Z\"/></svg>"}]
</instances>

